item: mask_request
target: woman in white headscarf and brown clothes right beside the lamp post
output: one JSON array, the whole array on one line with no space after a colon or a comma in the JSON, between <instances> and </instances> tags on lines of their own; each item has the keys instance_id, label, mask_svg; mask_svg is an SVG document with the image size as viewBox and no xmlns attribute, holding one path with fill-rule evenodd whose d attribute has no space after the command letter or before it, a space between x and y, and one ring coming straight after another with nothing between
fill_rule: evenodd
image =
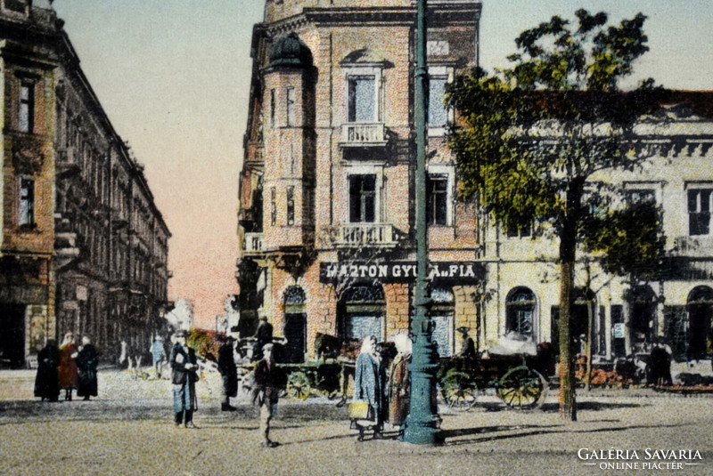
<instances>
[{"instance_id":1,"label":"woman in white headscarf and brown clothes right beside the lamp post","mask_svg":"<svg viewBox=\"0 0 713 476\"><path fill-rule=\"evenodd\" d=\"M394 337L397 354L389 369L389 424L401 427L406 423L408 407L411 400L410 375L408 363L411 359L411 339L406 334Z\"/></svg>"}]
</instances>

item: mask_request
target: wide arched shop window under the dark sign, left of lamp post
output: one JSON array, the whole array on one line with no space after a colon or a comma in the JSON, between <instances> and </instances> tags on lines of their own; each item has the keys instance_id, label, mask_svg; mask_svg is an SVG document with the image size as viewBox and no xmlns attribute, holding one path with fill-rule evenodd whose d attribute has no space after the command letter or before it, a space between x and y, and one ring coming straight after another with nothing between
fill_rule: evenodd
<instances>
[{"instance_id":1,"label":"wide arched shop window under the dark sign, left of lamp post","mask_svg":"<svg viewBox=\"0 0 713 476\"><path fill-rule=\"evenodd\" d=\"M381 286L355 285L341 294L339 305L340 335L348 339L364 339L375 335L383 340L385 300Z\"/></svg>"}]
</instances>

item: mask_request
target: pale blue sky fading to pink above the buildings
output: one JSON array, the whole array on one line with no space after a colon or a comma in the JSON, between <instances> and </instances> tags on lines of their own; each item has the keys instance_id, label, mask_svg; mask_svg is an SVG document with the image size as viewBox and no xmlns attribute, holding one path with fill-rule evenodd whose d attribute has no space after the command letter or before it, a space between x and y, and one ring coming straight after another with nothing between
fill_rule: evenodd
<instances>
[{"instance_id":1,"label":"pale blue sky fading to pink above the buildings","mask_svg":"<svg viewBox=\"0 0 713 476\"><path fill-rule=\"evenodd\" d=\"M507 66L514 38L578 8L610 22L648 17L651 51L635 78L713 89L710 0L483 0L480 66ZM263 0L55 0L81 67L128 141L171 230L169 299L211 327L237 292L238 174L248 110L250 37Z\"/></svg>"}]
</instances>

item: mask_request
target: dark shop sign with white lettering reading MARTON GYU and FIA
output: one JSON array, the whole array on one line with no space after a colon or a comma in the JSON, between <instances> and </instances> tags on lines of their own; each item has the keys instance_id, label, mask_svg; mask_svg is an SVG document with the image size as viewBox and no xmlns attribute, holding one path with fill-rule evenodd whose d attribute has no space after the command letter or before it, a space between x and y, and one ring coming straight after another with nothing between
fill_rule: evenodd
<instances>
[{"instance_id":1,"label":"dark shop sign with white lettering reading MARTON GYU and FIA","mask_svg":"<svg viewBox=\"0 0 713 476\"><path fill-rule=\"evenodd\" d=\"M343 279L379 279L385 282L413 281L416 278L415 262L365 263L339 262L320 263L320 281L336 282ZM479 262L431 262L429 280L463 281L472 283L485 276L485 268Z\"/></svg>"}]
</instances>

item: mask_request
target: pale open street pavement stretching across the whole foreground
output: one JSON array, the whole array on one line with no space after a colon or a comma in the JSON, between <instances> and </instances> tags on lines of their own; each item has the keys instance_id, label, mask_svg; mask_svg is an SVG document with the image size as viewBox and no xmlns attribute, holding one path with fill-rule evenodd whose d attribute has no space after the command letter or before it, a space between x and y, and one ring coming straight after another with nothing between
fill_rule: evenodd
<instances>
[{"instance_id":1,"label":"pale open street pavement stretching across the whole foreground","mask_svg":"<svg viewBox=\"0 0 713 476\"><path fill-rule=\"evenodd\" d=\"M495 399L464 413L443 411L443 446L417 447L394 439L356 442L344 408L333 401L281 400L275 419L278 448L260 448L257 411L238 401L221 412L219 378L199 384L198 430L171 422L170 383L100 373L95 401L47 403L31 398L34 374L0 373L0 474L615 474L602 461L578 459L610 448L699 450L696 465L678 461L668 471L713 472L710 397L662 396L645 389L580 391L577 423L562 422L556 395L529 413L504 409ZM554 392L553 392L554 393ZM628 461L629 464L635 460ZM615 464L615 462L610 462ZM620 462L619 464L623 464ZM680 469L676 465L680 464ZM606 466L606 462L604 462Z\"/></svg>"}]
</instances>

